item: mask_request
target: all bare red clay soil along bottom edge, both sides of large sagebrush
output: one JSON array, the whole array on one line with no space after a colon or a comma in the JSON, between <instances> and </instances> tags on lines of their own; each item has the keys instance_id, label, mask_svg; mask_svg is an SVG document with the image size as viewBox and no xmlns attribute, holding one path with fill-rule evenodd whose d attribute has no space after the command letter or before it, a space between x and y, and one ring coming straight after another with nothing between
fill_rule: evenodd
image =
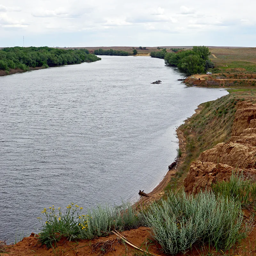
<instances>
[{"instance_id":1,"label":"all bare red clay soil along bottom edge, both sides of large sagebrush","mask_svg":"<svg viewBox=\"0 0 256 256\"><path fill-rule=\"evenodd\" d=\"M250 213L245 212L245 216ZM121 232L127 240L136 244L139 248L148 250L159 256L168 256L161 250L161 246L154 241L151 236L151 230L146 227L140 227L129 231ZM100 237L93 240L79 240L77 242L69 242L61 240L57 246L47 249L45 245L41 245L38 238L32 233L31 236L23 238L23 240L15 245L8 245L2 248L3 255L10 256L135 256L144 255L143 252L135 249L129 244L124 243L118 236L112 234L106 237ZM3 252L2 252L3 253ZM141 253L141 254L139 254ZM209 254L211 253L211 254ZM0 255L1 251L0 251ZM151 254L153 255L153 254ZM178 253L177 256L191 255L224 255L224 253L216 253L214 249L209 249L208 245L192 247L185 254ZM241 244L237 244L235 249L227 251L225 255L256 255L256 228L253 228L249 236L242 240Z\"/></svg>"}]
</instances>

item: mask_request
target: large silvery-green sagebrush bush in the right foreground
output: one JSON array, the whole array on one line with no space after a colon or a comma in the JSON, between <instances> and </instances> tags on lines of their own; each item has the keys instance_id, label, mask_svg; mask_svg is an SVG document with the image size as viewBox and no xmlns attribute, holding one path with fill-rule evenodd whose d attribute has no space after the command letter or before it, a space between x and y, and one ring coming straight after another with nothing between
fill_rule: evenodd
<instances>
[{"instance_id":1,"label":"large silvery-green sagebrush bush in the right foreground","mask_svg":"<svg viewBox=\"0 0 256 256\"><path fill-rule=\"evenodd\" d=\"M164 252L171 254L185 252L198 242L226 250L244 237L246 229L240 204L213 192L171 193L160 204L153 203L145 219Z\"/></svg>"}]
</instances>

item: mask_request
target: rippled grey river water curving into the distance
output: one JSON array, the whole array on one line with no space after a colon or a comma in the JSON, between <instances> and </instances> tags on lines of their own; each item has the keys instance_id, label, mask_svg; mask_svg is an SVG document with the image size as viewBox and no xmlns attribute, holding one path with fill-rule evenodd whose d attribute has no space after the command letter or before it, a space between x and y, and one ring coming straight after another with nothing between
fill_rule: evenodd
<instances>
[{"instance_id":1,"label":"rippled grey river water curving into the distance","mask_svg":"<svg viewBox=\"0 0 256 256\"><path fill-rule=\"evenodd\" d=\"M227 94L183 76L160 59L102 56L0 77L0 240L35 231L44 207L134 202L156 187L175 129Z\"/></svg>"}]
</instances>

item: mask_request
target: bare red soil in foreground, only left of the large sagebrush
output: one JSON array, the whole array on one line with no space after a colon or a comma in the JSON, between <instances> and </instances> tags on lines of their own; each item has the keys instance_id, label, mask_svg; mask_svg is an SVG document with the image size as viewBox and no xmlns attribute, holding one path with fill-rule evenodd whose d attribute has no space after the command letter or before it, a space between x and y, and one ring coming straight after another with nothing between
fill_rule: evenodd
<instances>
[{"instance_id":1,"label":"bare red soil in foreground, only left of the large sagebrush","mask_svg":"<svg viewBox=\"0 0 256 256\"><path fill-rule=\"evenodd\" d=\"M132 243L146 249L150 242L148 239L152 239L150 235L150 229L146 227L140 227L121 233ZM147 245L146 245L147 243ZM161 246L160 246L161 247ZM105 253L103 252L105 250ZM112 234L106 237L100 237L93 240L80 240L78 242L69 242L67 240L61 240L55 249L47 249L46 246L39 244L38 238L32 233L31 236L25 237L21 242L15 245L9 245L5 248L5 252L8 255L15 256L55 256L55 255L134 255L134 252L139 252L129 244L124 244L123 241L116 235ZM150 245L149 251L158 255L165 255L157 248L156 245Z\"/></svg>"}]
</instances>

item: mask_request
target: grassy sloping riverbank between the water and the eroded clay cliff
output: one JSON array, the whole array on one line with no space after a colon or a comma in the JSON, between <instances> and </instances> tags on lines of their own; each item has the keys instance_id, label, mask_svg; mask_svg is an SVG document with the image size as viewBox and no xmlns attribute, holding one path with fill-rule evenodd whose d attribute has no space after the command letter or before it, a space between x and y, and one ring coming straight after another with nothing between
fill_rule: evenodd
<instances>
[{"instance_id":1,"label":"grassy sloping riverbank between the water and the eroded clay cliff","mask_svg":"<svg viewBox=\"0 0 256 256\"><path fill-rule=\"evenodd\" d=\"M195 110L196 113L180 125L176 132L182 153L177 165L167 172L154 190L148 193L149 197L139 200L139 204L149 204L167 196L170 190L181 188L188 175L190 164L203 151L228 141L232 133L236 104L246 100L256 101L255 89L238 89L229 92L230 94L220 99L200 104Z\"/></svg>"}]
</instances>

